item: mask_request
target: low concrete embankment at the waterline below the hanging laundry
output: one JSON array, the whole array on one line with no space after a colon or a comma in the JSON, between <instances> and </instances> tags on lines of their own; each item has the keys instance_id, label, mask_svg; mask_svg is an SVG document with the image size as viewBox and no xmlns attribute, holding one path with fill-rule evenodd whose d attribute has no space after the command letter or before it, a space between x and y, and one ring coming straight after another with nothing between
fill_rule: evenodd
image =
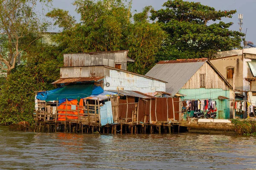
<instances>
[{"instance_id":1,"label":"low concrete embankment at the waterline below the hanging laundry","mask_svg":"<svg viewBox=\"0 0 256 170\"><path fill-rule=\"evenodd\" d=\"M236 134L235 125L228 119L190 119L180 126L191 133Z\"/></svg>"}]
</instances>

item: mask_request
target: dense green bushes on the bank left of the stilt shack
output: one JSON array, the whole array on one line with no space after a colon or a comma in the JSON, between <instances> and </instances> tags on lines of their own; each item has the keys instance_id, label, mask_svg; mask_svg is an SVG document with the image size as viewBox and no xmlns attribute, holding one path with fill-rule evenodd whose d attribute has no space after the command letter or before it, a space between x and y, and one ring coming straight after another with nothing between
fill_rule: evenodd
<instances>
[{"instance_id":1,"label":"dense green bushes on the bank left of the stilt shack","mask_svg":"<svg viewBox=\"0 0 256 170\"><path fill-rule=\"evenodd\" d=\"M18 66L2 86L0 96L0 124L20 121L33 122L35 91L47 90L49 85L34 66Z\"/></svg>"}]
</instances>

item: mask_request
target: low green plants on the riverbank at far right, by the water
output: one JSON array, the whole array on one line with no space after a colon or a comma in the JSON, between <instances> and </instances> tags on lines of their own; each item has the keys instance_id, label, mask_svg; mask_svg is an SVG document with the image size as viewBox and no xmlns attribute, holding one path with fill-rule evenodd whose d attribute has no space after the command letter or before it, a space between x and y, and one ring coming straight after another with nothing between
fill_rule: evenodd
<instances>
[{"instance_id":1,"label":"low green plants on the riverbank at far right, by the water","mask_svg":"<svg viewBox=\"0 0 256 170\"><path fill-rule=\"evenodd\" d=\"M249 120L232 119L236 133L239 135L256 135L256 122Z\"/></svg>"}]
</instances>

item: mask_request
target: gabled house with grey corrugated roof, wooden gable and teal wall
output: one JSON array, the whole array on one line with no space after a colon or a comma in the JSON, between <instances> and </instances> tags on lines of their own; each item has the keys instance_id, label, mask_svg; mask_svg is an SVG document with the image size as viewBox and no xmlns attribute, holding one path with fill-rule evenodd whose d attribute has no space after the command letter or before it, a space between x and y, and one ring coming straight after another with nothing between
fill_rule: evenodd
<instances>
[{"instance_id":1,"label":"gabled house with grey corrugated roof, wooden gable and teal wall","mask_svg":"<svg viewBox=\"0 0 256 170\"><path fill-rule=\"evenodd\" d=\"M207 58L160 61L146 76L168 82L166 92L183 94L183 100L215 100L218 119L233 116L233 88Z\"/></svg>"}]
</instances>

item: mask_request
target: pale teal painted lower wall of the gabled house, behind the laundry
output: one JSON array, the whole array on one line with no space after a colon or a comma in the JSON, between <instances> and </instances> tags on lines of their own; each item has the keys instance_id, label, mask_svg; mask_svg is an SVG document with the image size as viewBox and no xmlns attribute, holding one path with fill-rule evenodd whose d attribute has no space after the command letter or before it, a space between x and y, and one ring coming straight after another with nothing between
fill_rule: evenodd
<instances>
[{"instance_id":1,"label":"pale teal painted lower wall of the gabled house, behind the laundry","mask_svg":"<svg viewBox=\"0 0 256 170\"><path fill-rule=\"evenodd\" d=\"M221 88L216 89L180 89L180 94L186 96L182 99L214 99L217 103L217 119L230 119L230 101L227 99L219 100L218 96L230 98L230 91L224 91ZM190 113L192 116L193 113Z\"/></svg>"}]
</instances>

